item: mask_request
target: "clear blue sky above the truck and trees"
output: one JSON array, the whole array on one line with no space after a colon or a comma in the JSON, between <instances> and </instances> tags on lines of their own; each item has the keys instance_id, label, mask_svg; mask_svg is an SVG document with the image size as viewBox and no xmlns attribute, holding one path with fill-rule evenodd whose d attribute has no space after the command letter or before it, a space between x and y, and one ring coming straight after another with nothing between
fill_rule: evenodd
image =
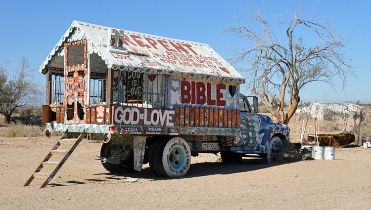
<instances>
[{"instance_id":1,"label":"clear blue sky above the truck and trees","mask_svg":"<svg viewBox=\"0 0 371 210\"><path fill-rule=\"evenodd\" d=\"M370 0L6 0L0 7L0 62L11 61L13 70L26 56L34 78L42 84L46 76L38 69L73 20L115 27L174 39L209 44L223 58L232 57L245 44L225 28L235 26L233 15L247 21L244 12L256 7L271 20L304 4L301 15L312 13L319 22L343 38L351 38L344 52L357 66L358 79L348 77L333 90L323 83L309 84L301 90L303 102L358 101L371 103L371 1ZM249 94L249 92L245 92Z\"/></svg>"}]
</instances>

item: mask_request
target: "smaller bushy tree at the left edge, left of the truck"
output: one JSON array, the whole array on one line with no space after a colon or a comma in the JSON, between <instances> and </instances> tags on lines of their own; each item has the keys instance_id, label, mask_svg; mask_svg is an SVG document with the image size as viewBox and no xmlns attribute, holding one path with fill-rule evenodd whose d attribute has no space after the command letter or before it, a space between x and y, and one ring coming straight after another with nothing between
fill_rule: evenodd
<instances>
[{"instance_id":1,"label":"smaller bushy tree at the left edge, left of the truck","mask_svg":"<svg viewBox=\"0 0 371 210\"><path fill-rule=\"evenodd\" d=\"M9 61L0 64L0 113L9 124L17 107L38 102L41 85L33 82L28 75L30 64L26 57L22 57L20 66L15 69L13 79L10 80L8 65Z\"/></svg>"}]
</instances>

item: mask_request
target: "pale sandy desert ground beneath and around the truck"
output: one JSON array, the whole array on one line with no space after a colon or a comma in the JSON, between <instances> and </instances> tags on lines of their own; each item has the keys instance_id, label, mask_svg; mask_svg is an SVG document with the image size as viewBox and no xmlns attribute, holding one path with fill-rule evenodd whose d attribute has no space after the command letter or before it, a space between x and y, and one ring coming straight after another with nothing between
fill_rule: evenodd
<instances>
[{"instance_id":1,"label":"pale sandy desert ground beneath and around the truck","mask_svg":"<svg viewBox=\"0 0 371 210\"><path fill-rule=\"evenodd\" d=\"M23 187L59 137L0 138L0 209L370 209L371 148L335 150L335 160L264 165L220 163L219 156L192 157L182 178L142 171L113 174L84 139L46 188L43 179ZM136 182L130 178L139 178Z\"/></svg>"}]
</instances>

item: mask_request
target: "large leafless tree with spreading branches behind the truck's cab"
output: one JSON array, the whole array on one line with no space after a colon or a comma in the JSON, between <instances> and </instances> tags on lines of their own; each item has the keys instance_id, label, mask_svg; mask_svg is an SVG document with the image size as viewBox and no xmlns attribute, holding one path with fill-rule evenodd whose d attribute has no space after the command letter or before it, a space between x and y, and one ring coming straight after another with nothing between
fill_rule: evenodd
<instances>
[{"instance_id":1,"label":"large leafless tree with spreading branches behind the truck's cab","mask_svg":"<svg viewBox=\"0 0 371 210\"><path fill-rule=\"evenodd\" d=\"M237 63L245 64L239 65L242 66L239 69L246 72L248 88L263 100L275 120L282 120L284 124L295 113L300 102L299 92L306 84L322 81L333 87L334 77L340 77L343 85L346 76L356 77L351 60L342 52L346 40L337 37L327 23L317 23L313 17L303 20L300 9L296 8L288 21L277 25L285 28L285 42L278 40L275 28L257 9L247 15L249 20L258 23L259 30L237 18L237 27L227 29L251 43L251 48L242 49L231 60L236 68ZM305 42L304 33L313 35L311 41L319 42L309 46L311 41ZM283 109L285 100L287 111Z\"/></svg>"}]
</instances>

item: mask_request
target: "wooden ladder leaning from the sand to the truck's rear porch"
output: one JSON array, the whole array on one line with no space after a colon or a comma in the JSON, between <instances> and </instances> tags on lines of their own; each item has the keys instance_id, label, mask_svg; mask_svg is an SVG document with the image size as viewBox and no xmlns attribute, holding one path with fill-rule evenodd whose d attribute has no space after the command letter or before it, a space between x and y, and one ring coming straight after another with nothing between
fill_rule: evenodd
<instances>
[{"instance_id":1,"label":"wooden ladder leaning from the sand to the truck's rear porch","mask_svg":"<svg viewBox=\"0 0 371 210\"><path fill-rule=\"evenodd\" d=\"M35 170L35 172L31 175L31 177L28 179L26 184L24 186L29 186L32 180L34 180L35 177L38 178L45 178L45 182L43 185L41 185L40 188L46 187L46 185L51 181L51 179L55 176L55 174L58 172L58 170L63 166L63 164L67 161L67 159L70 157L72 152L76 149L77 145L81 142L81 140L85 136L85 130L79 135L77 139L70 139L66 138L68 135L68 130L64 132L62 137L59 139L59 141L55 144L53 149L47 154L44 161L39 165L39 167ZM69 150L58 150L58 147L61 144L73 144ZM53 155L63 155L64 157L60 162L51 162L49 159ZM41 173L41 169L44 167L55 167L54 170L51 173Z\"/></svg>"}]
</instances>

